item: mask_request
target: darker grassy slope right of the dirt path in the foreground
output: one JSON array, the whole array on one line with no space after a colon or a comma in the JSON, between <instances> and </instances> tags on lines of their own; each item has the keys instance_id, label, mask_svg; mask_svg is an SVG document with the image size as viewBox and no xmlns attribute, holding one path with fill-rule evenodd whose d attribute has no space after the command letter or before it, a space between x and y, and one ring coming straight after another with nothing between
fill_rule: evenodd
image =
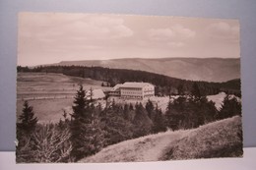
<instances>
[{"instance_id":1,"label":"darker grassy slope right of the dirt path in the foreground","mask_svg":"<svg viewBox=\"0 0 256 170\"><path fill-rule=\"evenodd\" d=\"M241 118L236 116L192 130L171 142L160 160L237 157L242 155Z\"/></svg>"}]
</instances>

